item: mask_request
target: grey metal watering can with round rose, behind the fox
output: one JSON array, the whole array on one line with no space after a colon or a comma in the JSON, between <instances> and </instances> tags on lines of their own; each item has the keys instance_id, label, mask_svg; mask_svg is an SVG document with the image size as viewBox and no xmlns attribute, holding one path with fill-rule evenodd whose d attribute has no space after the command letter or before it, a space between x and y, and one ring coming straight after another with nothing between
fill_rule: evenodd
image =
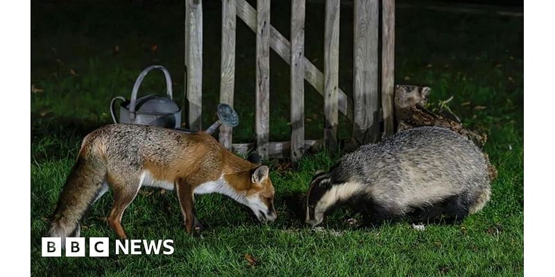
<instances>
[{"instance_id":1,"label":"grey metal watering can with round rose, behind the fox","mask_svg":"<svg viewBox=\"0 0 555 277\"><path fill-rule=\"evenodd\" d=\"M155 96L153 94L137 99L139 87L143 82L146 74L153 69L160 69L166 77L166 87L168 97ZM110 113L114 123L133 123L140 125L150 125L156 127L165 127L176 129L179 132L191 133L189 129L180 128L181 125L181 108L172 100L171 77L169 71L164 66L153 65L148 66L139 74L139 77L133 85L131 92L131 100L126 100L121 96L114 97L110 102ZM119 105L119 120L116 118L116 100L122 100ZM230 105L218 105L218 118L208 129L208 134L214 134L222 124L230 127L239 125L239 116Z\"/></svg>"}]
</instances>

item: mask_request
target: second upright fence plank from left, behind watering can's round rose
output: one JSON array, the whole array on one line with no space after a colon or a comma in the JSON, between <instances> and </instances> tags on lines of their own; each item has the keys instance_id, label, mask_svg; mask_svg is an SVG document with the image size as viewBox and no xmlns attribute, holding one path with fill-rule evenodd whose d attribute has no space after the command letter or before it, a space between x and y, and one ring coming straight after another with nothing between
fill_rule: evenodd
<instances>
[{"instance_id":1,"label":"second upright fence plank from left, behind watering can's round rose","mask_svg":"<svg viewBox=\"0 0 555 277\"><path fill-rule=\"evenodd\" d=\"M233 107L235 86L235 26L237 22L235 7L235 0L222 1L220 102L231 107ZM232 127L221 125L219 141L227 149L231 149L232 132Z\"/></svg>"}]
</instances>

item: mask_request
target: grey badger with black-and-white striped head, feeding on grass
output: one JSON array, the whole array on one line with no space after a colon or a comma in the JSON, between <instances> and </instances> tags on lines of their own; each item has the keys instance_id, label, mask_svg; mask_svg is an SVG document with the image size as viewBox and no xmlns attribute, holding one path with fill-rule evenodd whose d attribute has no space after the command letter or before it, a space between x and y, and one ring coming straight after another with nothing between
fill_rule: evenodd
<instances>
[{"instance_id":1,"label":"grey badger with black-and-white striped head, feeding on grass","mask_svg":"<svg viewBox=\"0 0 555 277\"><path fill-rule=\"evenodd\" d=\"M449 129L408 129L363 145L316 175L307 193L307 223L320 224L337 204L352 204L370 222L459 222L490 199L488 166L472 141Z\"/></svg>"}]
</instances>

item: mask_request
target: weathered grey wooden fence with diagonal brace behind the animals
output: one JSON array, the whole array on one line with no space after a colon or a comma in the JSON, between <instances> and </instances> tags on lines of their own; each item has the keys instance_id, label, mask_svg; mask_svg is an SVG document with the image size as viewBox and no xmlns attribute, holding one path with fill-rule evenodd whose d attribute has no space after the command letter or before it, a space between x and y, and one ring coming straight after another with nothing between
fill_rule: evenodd
<instances>
[{"instance_id":1,"label":"weathered grey wooden fence with diagonal brace behind the animals","mask_svg":"<svg viewBox=\"0 0 555 277\"><path fill-rule=\"evenodd\" d=\"M222 0L220 102L233 107L237 17L256 33L256 141L232 143L232 129L222 126L219 141L225 148L239 153L256 149L263 158L291 157L296 161L314 145L323 143L327 148L337 147L340 112L352 121L352 138L357 143L377 141L381 136L393 133L395 0L354 1L352 100L338 84L340 0L325 0L323 73L304 54L305 1L291 0L289 42L270 24L270 0L257 0L256 9L246 0ZM186 93L189 101L187 119L189 128L198 130L202 127L202 1L186 0L185 7ZM291 66L290 141L269 141L270 48ZM324 98L323 140L305 140L304 80ZM380 128L381 123L383 130Z\"/></svg>"}]
</instances>

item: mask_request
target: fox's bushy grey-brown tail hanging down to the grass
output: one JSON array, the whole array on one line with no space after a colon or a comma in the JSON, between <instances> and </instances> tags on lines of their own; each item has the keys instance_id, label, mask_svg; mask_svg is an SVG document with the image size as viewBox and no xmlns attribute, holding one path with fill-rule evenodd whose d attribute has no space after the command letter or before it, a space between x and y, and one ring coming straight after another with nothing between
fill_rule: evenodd
<instances>
[{"instance_id":1,"label":"fox's bushy grey-brown tail hanging down to the grass","mask_svg":"<svg viewBox=\"0 0 555 277\"><path fill-rule=\"evenodd\" d=\"M50 237L62 238L63 245L66 237L80 235L80 220L105 187L106 171L103 161L80 155L62 189L50 226Z\"/></svg>"}]
</instances>

